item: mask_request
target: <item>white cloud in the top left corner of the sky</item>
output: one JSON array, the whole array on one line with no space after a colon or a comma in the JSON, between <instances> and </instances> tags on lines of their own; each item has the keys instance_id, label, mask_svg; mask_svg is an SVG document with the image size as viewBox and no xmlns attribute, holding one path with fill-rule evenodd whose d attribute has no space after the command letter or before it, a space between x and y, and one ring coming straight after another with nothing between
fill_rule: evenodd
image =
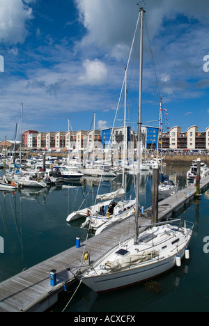
<instances>
[{"instance_id":1,"label":"white cloud in the top left corner of the sky","mask_svg":"<svg viewBox=\"0 0 209 326\"><path fill-rule=\"evenodd\" d=\"M31 0L0 0L0 40L8 45L23 43L28 31L26 22L32 19Z\"/></svg>"}]
</instances>

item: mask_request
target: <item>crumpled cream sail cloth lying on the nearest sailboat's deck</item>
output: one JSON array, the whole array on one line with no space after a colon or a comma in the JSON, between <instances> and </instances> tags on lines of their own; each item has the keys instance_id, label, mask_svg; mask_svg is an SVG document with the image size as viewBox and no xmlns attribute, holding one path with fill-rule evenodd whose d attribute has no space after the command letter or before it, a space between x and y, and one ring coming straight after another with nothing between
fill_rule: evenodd
<instances>
[{"instance_id":1,"label":"crumpled cream sail cloth lying on the nearest sailboat's deck","mask_svg":"<svg viewBox=\"0 0 209 326\"><path fill-rule=\"evenodd\" d=\"M150 261L159 255L158 251L144 251L141 255L128 255L116 261L107 261L105 267L107 270L114 272L116 270L121 270L123 268L129 268L133 265L138 265L139 263L144 263L145 261Z\"/></svg>"}]
</instances>

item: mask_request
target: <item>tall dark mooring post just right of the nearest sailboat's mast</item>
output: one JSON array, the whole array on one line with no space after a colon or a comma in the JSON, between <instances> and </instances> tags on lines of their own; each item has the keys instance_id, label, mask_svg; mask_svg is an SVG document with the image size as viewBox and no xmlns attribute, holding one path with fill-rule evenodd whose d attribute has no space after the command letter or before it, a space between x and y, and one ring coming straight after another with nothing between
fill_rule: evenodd
<instances>
[{"instance_id":1,"label":"tall dark mooring post just right of the nearest sailboat's mast","mask_svg":"<svg viewBox=\"0 0 209 326\"><path fill-rule=\"evenodd\" d=\"M153 187L152 187L152 223L158 220L158 186L159 186L159 166L153 166Z\"/></svg>"}]
</instances>

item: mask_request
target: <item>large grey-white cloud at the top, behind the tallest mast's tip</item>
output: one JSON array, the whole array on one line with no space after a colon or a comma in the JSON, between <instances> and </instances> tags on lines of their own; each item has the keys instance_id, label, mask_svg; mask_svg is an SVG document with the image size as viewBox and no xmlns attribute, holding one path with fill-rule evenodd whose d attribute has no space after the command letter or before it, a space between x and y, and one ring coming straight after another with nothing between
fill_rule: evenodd
<instances>
[{"instance_id":1,"label":"large grey-white cloud at the top, behind the tallest mast's tip","mask_svg":"<svg viewBox=\"0 0 209 326\"><path fill-rule=\"evenodd\" d=\"M75 0L75 3L88 31L83 40L85 45L96 44L112 54L118 54L117 48L130 45L139 13L135 0ZM174 21L178 14L189 20L209 22L208 0L201 0L198 6L196 0L147 0L145 10L150 38L164 32L164 20Z\"/></svg>"}]
</instances>

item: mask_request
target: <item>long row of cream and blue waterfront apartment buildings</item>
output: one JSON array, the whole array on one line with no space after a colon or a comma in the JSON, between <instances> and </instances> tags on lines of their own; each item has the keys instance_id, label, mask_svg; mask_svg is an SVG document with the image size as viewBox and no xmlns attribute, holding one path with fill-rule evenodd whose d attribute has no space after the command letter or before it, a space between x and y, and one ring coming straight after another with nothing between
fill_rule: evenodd
<instances>
[{"instance_id":1,"label":"long row of cream and blue waterfront apartment buildings","mask_svg":"<svg viewBox=\"0 0 209 326\"><path fill-rule=\"evenodd\" d=\"M125 137L125 139L124 139ZM160 139L159 139L160 138ZM142 148L155 150L159 147L163 150L209 150L209 127L200 132L199 127L193 125L187 131L182 131L182 127L174 126L168 132L159 132L158 127L142 127ZM4 141L0 142L3 148ZM92 148L108 148L109 143L112 148L123 149L124 143L127 148L137 147L137 133L130 126L107 128L104 130L79 130L68 132L37 132L36 130L26 130L22 134L22 147L37 150L92 150Z\"/></svg>"}]
</instances>

